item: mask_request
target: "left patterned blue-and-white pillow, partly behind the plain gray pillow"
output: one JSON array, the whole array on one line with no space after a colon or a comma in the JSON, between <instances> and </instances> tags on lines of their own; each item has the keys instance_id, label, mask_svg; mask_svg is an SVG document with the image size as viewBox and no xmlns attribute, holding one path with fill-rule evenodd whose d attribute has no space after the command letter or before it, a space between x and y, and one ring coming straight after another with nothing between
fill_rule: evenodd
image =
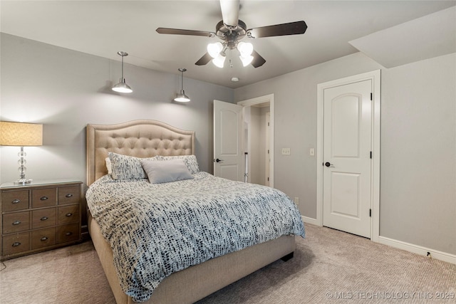
<instances>
[{"instance_id":1,"label":"left patterned blue-and-white pillow, partly behind the plain gray pillow","mask_svg":"<svg viewBox=\"0 0 456 304\"><path fill-rule=\"evenodd\" d=\"M140 158L123 154L108 152L111 160L111 177L113 179L147 179L147 174L142 169L141 160L158 160L157 157Z\"/></svg>"}]
</instances>

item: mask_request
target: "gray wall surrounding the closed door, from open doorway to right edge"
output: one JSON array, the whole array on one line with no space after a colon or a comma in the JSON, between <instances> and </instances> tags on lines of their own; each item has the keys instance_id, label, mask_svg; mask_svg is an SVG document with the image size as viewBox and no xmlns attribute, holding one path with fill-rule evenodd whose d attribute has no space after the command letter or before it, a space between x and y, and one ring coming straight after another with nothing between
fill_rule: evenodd
<instances>
[{"instance_id":1,"label":"gray wall surrounding the closed door, from open doorway to right edge","mask_svg":"<svg viewBox=\"0 0 456 304\"><path fill-rule=\"evenodd\" d=\"M234 100L274 93L274 186L316 219L316 86L378 69L380 236L456 254L455 53L390 69L356 53L238 88Z\"/></svg>"}]
</instances>

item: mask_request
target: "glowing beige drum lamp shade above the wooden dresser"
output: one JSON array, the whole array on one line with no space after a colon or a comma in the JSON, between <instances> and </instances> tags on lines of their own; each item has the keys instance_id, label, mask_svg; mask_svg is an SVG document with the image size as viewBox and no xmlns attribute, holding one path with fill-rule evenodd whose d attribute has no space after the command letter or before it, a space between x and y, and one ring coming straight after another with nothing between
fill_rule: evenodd
<instances>
[{"instance_id":1,"label":"glowing beige drum lamp shade above the wooden dresser","mask_svg":"<svg viewBox=\"0 0 456 304\"><path fill-rule=\"evenodd\" d=\"M42 146L43 125L25 122L0 122L0 145Z\"/></svg>"}]
</instances>

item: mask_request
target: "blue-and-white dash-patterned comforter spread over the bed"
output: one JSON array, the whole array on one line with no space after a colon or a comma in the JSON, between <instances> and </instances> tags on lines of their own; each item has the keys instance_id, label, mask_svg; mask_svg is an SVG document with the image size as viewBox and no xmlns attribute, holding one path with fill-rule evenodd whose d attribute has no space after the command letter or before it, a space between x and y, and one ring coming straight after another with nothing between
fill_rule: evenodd
<instances>
[{"instance_id":1,"label":"blue-and-white dash-patterned comforter spread over the bed","mask_svg":"<svg viewBox=\"0 0 456 304\"><path fill-rule=\"evenodd\" d=\"M135 301L148 300L171 273L210 258L282 235L304 237L301 215L283 192L207 172L193 177L150 184L105 175L86 193L120 285Z\"/></svg>"}]
</instances>

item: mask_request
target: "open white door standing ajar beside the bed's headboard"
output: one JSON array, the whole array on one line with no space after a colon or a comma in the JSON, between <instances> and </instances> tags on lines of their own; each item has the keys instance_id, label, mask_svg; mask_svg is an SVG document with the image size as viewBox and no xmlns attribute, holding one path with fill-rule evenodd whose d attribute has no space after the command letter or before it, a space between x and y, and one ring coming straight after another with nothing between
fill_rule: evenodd
<instances>
[{"instance_id":1,"label":"open white door standing ajar beside the bed's headboard","mask_svg":"<svg viewBox=\"0 0 456 304\"><path fill-rule=\"evenodd\" d=\"M214 100L214 175L244 181L242 106Z\"/></svg>"}]
</instances>

